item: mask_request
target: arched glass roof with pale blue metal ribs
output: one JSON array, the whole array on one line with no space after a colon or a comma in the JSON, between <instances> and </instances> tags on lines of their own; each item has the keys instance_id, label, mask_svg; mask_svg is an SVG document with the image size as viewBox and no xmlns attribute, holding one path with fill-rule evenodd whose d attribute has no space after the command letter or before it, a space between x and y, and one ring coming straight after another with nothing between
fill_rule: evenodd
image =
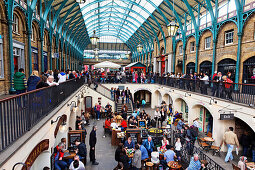
<instances>
[{"instance_id":1,"label":"arched glass roof with pale blue metal ribs","mask_svg":"<svg viewBox=\"0 0 255 170\"><path fill-rule=\"evenodd\" d=\"M97 36L104 37L100 42L125 43L162 1L87 0L80 8L89 36L96 30Z\"/></svg>"}]
</instances>

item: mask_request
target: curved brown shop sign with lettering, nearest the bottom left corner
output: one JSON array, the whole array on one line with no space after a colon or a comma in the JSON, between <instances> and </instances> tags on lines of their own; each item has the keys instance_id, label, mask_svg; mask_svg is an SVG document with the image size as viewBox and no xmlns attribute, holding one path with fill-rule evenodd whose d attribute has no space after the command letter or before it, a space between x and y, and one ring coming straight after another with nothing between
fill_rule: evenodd
<instances>
[{"instance_id":1,"label":"curved brown shop sign with lettering, nearest the bottom left corner","mask_svg":"<svg viewBox=\"0 0 255 170\"><path fill-rule=\"evenodd\" d=\"M49 139L45 139L43 141L41 141L40 143L38 143L34 149L32 150L32 152L29 154L25 164L27 165L27 167L31 167L33 165L33 163L35 162L36 158L43 152L48 150L49 148ZM25 170L25 167L22 168L22 170Z\"/></svg>"}]
</instances>

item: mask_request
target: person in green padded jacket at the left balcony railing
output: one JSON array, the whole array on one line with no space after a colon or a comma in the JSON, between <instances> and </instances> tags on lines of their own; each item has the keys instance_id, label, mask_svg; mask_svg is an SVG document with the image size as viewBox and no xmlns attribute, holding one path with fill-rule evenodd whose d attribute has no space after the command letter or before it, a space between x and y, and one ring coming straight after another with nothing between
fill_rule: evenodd
<instances>
[{"instance_id":1,"label":"person in green padded jacket at the left balcony railing","mask_svg":"<svg viewBox=\"0 0 255 170\"><path fill-rule=\"evenodd\" d=\"M14 74L12 83L14 89L16 90L16 94L26 92L27 80L23 68L20 68L19 71Z\"/></svg>"}]
</instances>

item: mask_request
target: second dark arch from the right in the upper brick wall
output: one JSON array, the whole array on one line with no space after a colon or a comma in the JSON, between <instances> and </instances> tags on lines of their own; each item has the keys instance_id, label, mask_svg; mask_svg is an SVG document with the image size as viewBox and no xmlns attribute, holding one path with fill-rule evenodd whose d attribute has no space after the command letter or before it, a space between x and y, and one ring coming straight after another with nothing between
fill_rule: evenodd
<instances>
[{"instance_id":1,"label":"second dark arch from the right in the upper brick wall","mask_svg":"<svg viewBox=\"0 0 255 170\"><path fill-rule=\"evenodd\" d=\"M236 73L236 61L230 58L226 58L218 62L218 72L221 72L222 75L227 75L228 72L231 73L231 80L235 81Z\"/></svg>"}]
</instances>

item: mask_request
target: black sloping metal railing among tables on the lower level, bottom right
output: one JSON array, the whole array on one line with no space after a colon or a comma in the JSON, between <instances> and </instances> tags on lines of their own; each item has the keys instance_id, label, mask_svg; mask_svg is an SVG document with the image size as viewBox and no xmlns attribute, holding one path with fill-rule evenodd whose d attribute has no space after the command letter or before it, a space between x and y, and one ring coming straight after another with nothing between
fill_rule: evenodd
<instances>
[{"instance_id":1,"label":"black sloping metal railing among tables on the lower level, bottom right","mask_svg":"<svg viewBox=\"0 0 255 170\"><path fill-rule=\"evenodd\" d=\"M181 139L182 149L181 149L181 161L185 165L189 165L190 159L194 154L198 154L200 160L206 160L208 165L207 169L210 170L224 170L222 166L220 166L217 162L215 162L212 158L207 156L200 148L196 147L194 143L187 142L185 138L182 137L180 133L175 130L171 130L171 145L175 145L176 138Z\"/></svg>"}]
</instances>

